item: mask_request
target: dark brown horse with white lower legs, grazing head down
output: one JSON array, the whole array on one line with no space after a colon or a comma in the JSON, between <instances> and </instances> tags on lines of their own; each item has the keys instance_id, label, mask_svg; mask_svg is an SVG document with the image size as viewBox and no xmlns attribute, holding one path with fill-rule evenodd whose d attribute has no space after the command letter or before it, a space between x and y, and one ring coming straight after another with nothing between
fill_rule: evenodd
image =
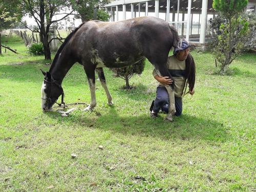
<instances>
[{"instance_id":1,"label":"dark brown horse with white lower legs, grazing head down","mask_svg":"<svg viewBox=\"0 0 256 192\"><path fill-rule=\"evenodd\" d=\"M177 30L165 20L157 17L144 16L119 22L101 22L90 20L82 23L71 32L58 49L49 72L44 72L41 86L41 109L52 111L53 104L62 95L61 83L75 62L80 63L86 72L91 103L85 110L92 110L96 106L95 71L112 105L112 96L106 86L103 67L121 68L135 64L147 58L158 75L168 76L166 62L169 51L179 47L181 39ZM175 114L174 83L166 86L169 95L169 113L166 119L173 121Z\"/></svg>"}]
</instances>

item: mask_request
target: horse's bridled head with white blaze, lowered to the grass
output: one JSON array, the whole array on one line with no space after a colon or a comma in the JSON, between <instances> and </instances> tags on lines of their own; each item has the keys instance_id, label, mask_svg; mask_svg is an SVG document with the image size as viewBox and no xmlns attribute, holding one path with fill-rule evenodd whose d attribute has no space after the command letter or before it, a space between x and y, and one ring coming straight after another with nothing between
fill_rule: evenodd
<instances>
[{"instance_id":1,"label":"horse's bridled head with white blaze, lowered to the grass","mask_svg":"<svg viewBox=\"0 0 256 192\"><path fill-rule=\"evenodd\" d=\"M41 72L45 75L41 87L41 108L42 111L51 111L53 104L58 100L59 96L63 94L63 89L49 72L42 70Z\"/></svg>"}]
</instances>

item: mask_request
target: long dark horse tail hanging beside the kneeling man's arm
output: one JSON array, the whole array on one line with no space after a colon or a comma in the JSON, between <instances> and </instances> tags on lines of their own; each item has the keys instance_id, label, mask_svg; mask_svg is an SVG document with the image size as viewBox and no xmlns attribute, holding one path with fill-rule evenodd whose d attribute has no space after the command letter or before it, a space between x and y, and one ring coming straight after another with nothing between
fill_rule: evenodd
<instances>
[{"instance_id":1,"label":"long dark horse tail hanging beside the kneeling man's arm","mask_svg":"<svg viewBox=\"0 0 256 192\"><path fill-rule=\"evenodd\" d=\"M186 70L185 70L185 77L186 77L186 88L184 94L189 93L195 87L196 81L196 65L193 56L189 53L186 60L185 60ZM186 93L187 83L189 84L189 91Z\"/></svg>"}]
</instances>

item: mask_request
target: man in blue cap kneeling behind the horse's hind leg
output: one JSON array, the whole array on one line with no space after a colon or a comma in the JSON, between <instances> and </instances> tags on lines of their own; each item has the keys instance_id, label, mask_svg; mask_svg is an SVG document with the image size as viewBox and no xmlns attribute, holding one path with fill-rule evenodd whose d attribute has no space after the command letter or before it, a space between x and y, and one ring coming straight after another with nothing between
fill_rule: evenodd
<instances>
[{"instance_id":1,"label":"man in blue cap kneeling behind the horse's hind leg","mask_svg":"<svg viewBox=\"0 0 256 192\"><path fill-rule=\"evenodd\" d=\"M191 95L195 93L194 85L196 79L196 67L193 57L189 54L189 49L190 46L188 45L188 42L183 39L181 48L175 48L174 55L169 56L167 59L167 69L175 81L174 92L176 116L180 116L182 114L182 95L186 87L186 83L188 83L188 92ZM164 86L169 86L173 83L173 80L169 79L169 77L159 76L155 69L153 71L153 76L159 82L156 91L156 99L152 102L150 108L151 117L155 118L157 117L160 109L163 112L168 113L169 97Z\"/></svg>"}]
</instances>

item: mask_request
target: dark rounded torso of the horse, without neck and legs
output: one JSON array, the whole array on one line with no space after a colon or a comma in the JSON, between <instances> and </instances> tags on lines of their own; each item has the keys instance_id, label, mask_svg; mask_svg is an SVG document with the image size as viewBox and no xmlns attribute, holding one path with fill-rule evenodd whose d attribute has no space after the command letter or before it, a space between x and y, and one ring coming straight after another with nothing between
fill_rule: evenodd
<instances>
[{"instance_id":1,"label":"dark rounded torso of the horse, without neck and legs","mask_svg":"<svg viewBox=\"0 0 256 192\"><path fill-rule=\"evenodd\" d=\"M132 65L143 56L170 49L171 32L165 20L145 16L119 22L86 22L72 42L78 55L90 61L97 57L105 67Z\"/></svg>"}]
</instances>

